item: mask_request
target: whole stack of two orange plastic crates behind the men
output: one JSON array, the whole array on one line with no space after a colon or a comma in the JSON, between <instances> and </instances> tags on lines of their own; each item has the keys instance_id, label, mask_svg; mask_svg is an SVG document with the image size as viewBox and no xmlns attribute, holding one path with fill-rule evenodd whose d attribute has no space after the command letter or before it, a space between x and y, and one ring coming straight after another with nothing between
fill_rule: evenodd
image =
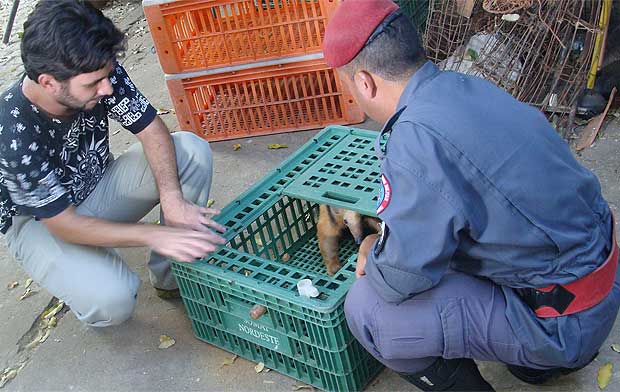
<instances>
[{"instance_id":1,"label":"whole stack of two orange plastic crates behind the men","mask_svg":"<svg viewBox=\"0 0 620 392\"><path fill-rule=\"evenodd\" d=\"M225 140L363 121L322 57L338 1L144 0L181 127Z\"/></svg>"}]
</instances>

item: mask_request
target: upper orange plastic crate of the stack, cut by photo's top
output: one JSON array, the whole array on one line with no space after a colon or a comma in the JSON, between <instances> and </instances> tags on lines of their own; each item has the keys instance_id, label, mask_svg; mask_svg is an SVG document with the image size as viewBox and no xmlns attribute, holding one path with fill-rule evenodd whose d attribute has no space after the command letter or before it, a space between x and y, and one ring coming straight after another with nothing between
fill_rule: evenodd
<instances>
[{"instance_id":1,"label":"upper orange plastic crate of the stack, cut by photo's top","mask_svg":"<svg viewBox=\"0 0 620 392\"><path fill-rule=\"evenodd\" d=\"M144 0L164 72L321 52L339 0Z\"/></svg>"}]
</instances>

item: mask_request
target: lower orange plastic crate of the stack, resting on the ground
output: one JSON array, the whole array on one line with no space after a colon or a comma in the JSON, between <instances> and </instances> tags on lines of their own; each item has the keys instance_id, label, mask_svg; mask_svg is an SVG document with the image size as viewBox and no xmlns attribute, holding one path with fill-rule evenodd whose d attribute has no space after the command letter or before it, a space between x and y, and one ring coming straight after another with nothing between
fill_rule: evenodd
<instances>
[{"instance_id":1,"label":"lower orange plastic crate of the stack, resting on the ground","mask_svg":"<svg viewBox=\"0 0 620 392\"><path fill-rule=\"evenodd\" d=\"M211 141L364 121L364 113L320 55L183 76L166 76L179 124Z\"/></svg>"}]
</instances>

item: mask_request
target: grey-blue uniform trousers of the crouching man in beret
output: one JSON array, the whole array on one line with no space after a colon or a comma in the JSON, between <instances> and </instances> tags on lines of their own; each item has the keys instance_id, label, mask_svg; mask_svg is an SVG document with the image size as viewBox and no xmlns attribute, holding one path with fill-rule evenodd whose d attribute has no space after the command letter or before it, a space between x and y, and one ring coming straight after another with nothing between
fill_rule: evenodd
<instances>
[{"instance_id":1,"label":"grey-blue uniform trousers of the crouching man in beret","mask_svg":"<svg viewBox=\"0 0 620 392\"><path fill-rule=\"evenodd\" d=\"M620 269L612 292L599 305L571 316L542 319L528 308L511 323L507 307L526 306L510 293L488 280L450 271L437 286L397 305L383 301L362 277L347 294L345 315L364 348L399 373L417 373L437 357L576 368L592 359L612 329L620 304Z\"/></svg>"}]
</instances>

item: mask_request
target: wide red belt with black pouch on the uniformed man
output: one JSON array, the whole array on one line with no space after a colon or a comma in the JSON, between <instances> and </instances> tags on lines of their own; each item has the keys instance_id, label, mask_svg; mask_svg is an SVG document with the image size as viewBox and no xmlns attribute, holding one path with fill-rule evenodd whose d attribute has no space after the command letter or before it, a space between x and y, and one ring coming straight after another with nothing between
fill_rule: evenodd
<instances>
[{"instance_id":1,"label":"wide red belt with black pouch on the uniformed man","mask_svg":"<svg viewBox=\"0 0 620 392\"><path fill-rule=\"evenodd\" d=\"M588 275L563 285L517 289L538 317L566 316L598 305L611 291L618 268L616 225L612 216L612 249L607 260Z\"/></svg>"}]
</instances>

